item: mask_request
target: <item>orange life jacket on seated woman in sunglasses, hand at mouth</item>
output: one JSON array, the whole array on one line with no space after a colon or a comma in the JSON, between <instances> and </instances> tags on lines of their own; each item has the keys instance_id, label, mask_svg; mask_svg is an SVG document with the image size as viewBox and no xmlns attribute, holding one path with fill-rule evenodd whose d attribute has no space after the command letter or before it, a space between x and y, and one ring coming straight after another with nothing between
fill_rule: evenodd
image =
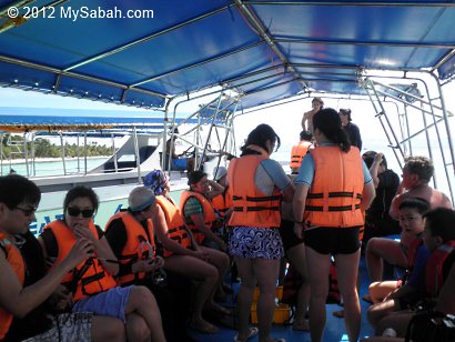
<instances>
[{"instance_id":1,"label":"orange life jacket on seated woman in sunglasses, hand at mouth","mask_svg":"<svg viewBox=\"0 0 455 342\"><path fill-rule=\"evenodd\" d=\"M95 239L99 239L93 221L90 221L89 228ZM70 253L72 247L77 242L77 238L67 224L60 220L49 223L44 229L52 230L57 240L59 254L52 265L52 268L54 268ZM67 273L62 280L62 284L73 292L74 301L78 301L115 288L117 281L111 274L104 272L104 268L98 259L89 258L78 264L75 269Z\"/></svg>"}]
</instances>

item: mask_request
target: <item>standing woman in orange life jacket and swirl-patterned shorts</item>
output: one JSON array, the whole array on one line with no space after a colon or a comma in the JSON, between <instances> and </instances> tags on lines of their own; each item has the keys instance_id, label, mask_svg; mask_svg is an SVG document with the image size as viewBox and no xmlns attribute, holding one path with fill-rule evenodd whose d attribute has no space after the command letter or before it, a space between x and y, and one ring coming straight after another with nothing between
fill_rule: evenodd
<instances>
[{"instance_id":1,"label":"standing woman in orange life jacket and swirl-patterned shorts","mask_svg":"<svg viewBox=\"0 0 455 342\"><path fill-rule=\"evenodd\" d=\"M257 125L241 148L242 154L229 165L228 179L234 211L229 221L229 251L234 256L241 285L239 291L239 334L245 341L257 333L249 329L253 291L260 286L257 302L259 340L269 336L275 309L275 288L280 260L284 255L280 238L280 202L292 201L294 185L270 154L280 147L280 137L267 124Z\"/></svg>"}]
</instances>

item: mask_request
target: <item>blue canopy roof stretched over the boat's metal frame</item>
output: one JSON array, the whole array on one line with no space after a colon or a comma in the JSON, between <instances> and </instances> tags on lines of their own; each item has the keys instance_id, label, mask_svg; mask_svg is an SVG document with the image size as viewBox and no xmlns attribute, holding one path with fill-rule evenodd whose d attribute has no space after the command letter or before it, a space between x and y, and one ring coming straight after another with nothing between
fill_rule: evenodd
<instances>
[{"instance_id":1,"label":"blue canopy roof stretched over the boat's metal frame","mask_svg":"<svg viewBox=\"0 0 455 342\"><path fill-rule=\"evenodd\" d=\"M223 86L247 108L310 91L363 93L365 68L435 70L441 80L455 71L454 1L20 3L1 2L2 87L164 108ZM19 17L8 18L14 4Z\"/></svg>"}]
</instances>

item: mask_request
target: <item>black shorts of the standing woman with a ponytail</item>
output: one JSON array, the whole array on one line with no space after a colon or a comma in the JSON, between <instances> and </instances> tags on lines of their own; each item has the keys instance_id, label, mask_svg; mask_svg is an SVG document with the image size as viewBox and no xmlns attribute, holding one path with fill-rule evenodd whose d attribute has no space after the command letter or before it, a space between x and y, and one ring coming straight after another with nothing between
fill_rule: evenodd
<instances>
[{"instance_id":1,"label":"black shorts of the standing woman with a ponytail","mask_svg":"<svg viewBox=\"0 0 455 342\"><path fill-rule=\"evenodd\" d=\"M320 254L352 254L360 247L358 227L317 227L305 230L305 245Z\"/></svg>"}]
</instances>

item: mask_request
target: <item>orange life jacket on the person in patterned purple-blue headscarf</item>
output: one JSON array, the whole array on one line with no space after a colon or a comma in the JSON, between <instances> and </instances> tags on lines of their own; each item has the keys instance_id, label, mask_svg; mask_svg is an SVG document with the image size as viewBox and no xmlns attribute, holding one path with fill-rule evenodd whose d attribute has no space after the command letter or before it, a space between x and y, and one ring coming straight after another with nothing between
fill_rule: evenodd
<instances>
[{"instance_id":1,"label":"orange life jacket on the person in patterned purple-blue headscarf","mask_svg":"<svg viewBox=\"0 0 455 342\"><path fill-rule=\"evenodd\" d=\"M182 214L175 203L163 195L158 195L156 203L164 212L168 235L183 248L191 247L191 238L186 232L185 222L183 222ZM174 252L164 249L164 256L170 256Z\"/></svg>"}]
</instances>

